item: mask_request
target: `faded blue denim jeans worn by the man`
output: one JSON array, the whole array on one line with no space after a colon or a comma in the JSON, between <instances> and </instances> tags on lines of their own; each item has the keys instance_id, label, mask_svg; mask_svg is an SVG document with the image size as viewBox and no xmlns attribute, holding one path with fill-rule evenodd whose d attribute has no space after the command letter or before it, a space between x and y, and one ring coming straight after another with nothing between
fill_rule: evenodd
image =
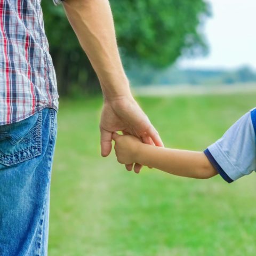
<instances>
[{"instance_id":1,"label":"faded blue denim jeans worn by the man","mask_svg":"<svg viewBox=\"0 0 256 256\"><path fill-rule=\"evenodd\" d=\"M47 255L57 111L0 126L0 255Z\"/></svg>"}]
</instances>

